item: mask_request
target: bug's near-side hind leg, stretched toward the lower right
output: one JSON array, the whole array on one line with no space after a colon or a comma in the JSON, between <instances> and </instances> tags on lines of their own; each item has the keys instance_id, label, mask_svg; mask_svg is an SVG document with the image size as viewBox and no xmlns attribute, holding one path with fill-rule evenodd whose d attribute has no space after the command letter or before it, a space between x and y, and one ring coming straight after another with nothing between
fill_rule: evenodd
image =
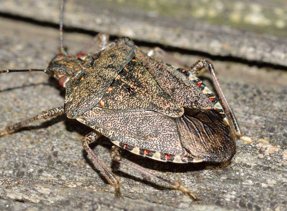
<instances>
[{"instance_id":1,"label":"bug's near-side hind leg, stretched toward the lower right","mask_svg":"<svg viewBox=\"0 0 287 211\"><path fill-rule=\"evenodd\" d=\"M194 201L199 201L198 199L187 187L183 186L181 182L177 180L171 180L169 178L163 177L157 173L154 173L150 171L149 169L146 169L140 165L137 165L136 163L133 163L123 157L121 157L121 149L117 146L113 146L111 151L110 151L110 157L119 163L123 163L131 168L136 169L137 171L140 171L141 173L144 173L145 175L148 175L152 178L155 178L164 184L172 187L175 190L180 190L185 196L192 198Z\"/></svg>"}]
</instances>

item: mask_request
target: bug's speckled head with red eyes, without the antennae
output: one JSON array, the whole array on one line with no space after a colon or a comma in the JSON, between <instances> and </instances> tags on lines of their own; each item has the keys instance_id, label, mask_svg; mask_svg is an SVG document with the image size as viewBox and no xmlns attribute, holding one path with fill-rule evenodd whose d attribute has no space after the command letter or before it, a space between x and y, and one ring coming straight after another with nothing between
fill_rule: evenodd
<instances>
[{"instance_id":1,"label":"bug's speckled head with red eyes, without the antennae","mask_svg":"<svg viewBox=\"0 0 287 211\"><path fill-rule=\"evenodd\" d=\"M50 62L48 70L59 80L59 84L65 87L65 83L83 70L86 60L79 56L58 54Z\"/></svg>"}]
</instances>

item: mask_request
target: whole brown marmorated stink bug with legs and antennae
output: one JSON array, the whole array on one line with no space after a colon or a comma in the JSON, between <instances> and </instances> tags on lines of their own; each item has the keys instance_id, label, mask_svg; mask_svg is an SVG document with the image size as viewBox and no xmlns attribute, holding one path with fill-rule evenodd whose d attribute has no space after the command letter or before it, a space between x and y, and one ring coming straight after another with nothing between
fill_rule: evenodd
<instances>
[{"instance_id":1,"label":"whole brown marmorated stink bug with legs and antennae","mask_svg":"<svg viewBox=\"0 0 287 211\"><path fill-rule=\"evenodd\" d=\"M229 160L235 153L234 136L246 142L254 140L242 135L211 62L201 59L189 68L177 68L152 57L159 52L182 64L159 48L146 54L129 38L108 44L108 36L103 33L73 56L63 48L62 29L63 0L60 5L61 53L51 60L46 70L2 70L0 73L42 71L49 74L66 88L64 106L10 125L0 136L39 119L66 115L94 129L82 139L82 145L115 188L116 197L121 197L119 180L89 147L101 135L115 145L110 152L113 160L179 189L194 200L197 197L181 182L121 157L121 148L164 162L218 163ZM100 51L86 54L96 40L100 40ZM197 78L205 67L210 71L223 107Z\"/></svg>"}]
</instances>

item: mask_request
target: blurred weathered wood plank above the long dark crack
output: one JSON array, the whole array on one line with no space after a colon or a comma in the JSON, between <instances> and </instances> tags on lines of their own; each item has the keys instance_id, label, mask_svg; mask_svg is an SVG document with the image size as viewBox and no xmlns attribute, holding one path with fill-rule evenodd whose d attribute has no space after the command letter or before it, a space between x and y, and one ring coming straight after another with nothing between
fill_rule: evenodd
<instances>
[{"instance_id":1,"label":"blurred weathered wood plank above the long dark crack","mask_svg":"<svg viewBox=\"0 0 287 211\"><path fill-rule=\"evenodd\" d=\"M285 0L69 0L65 25L287 66ZM2 0L0 12L59 22L58 1Z\"/></svg>"}]
</instances>

